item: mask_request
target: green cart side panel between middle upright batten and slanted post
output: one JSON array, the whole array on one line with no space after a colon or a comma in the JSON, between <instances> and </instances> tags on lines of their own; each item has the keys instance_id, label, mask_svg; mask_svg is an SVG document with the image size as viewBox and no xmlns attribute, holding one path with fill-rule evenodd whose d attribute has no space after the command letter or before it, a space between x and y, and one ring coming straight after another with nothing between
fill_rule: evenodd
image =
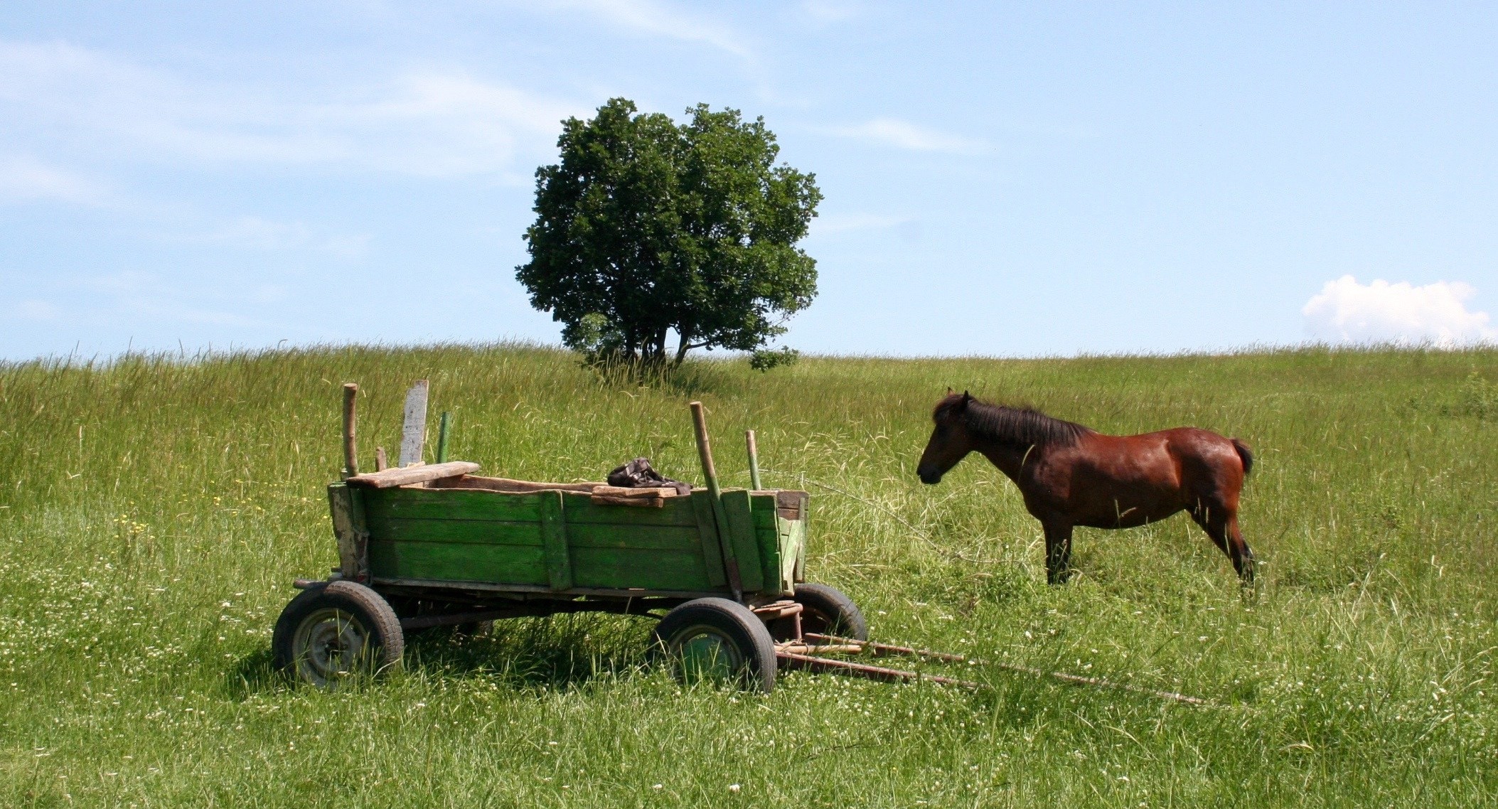
<instances>
[{"instance_id":1,"label":"green cart side panel between middle upright batten and slanted post","mask_svg":"<svg viewBox=\"0 0 1498 809\"><path fill-rule=\"evenodd\" d=\"M661 508L565 497L566 538L575 587L715 590L691 499Z\"/></svg>"}]
</instances>

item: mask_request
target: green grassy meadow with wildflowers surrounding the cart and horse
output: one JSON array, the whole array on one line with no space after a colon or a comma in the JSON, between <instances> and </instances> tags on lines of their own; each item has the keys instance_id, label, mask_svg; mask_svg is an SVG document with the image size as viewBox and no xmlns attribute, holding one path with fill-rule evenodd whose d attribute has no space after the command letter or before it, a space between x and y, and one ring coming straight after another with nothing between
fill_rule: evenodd
<instances>
[{"instance_id":1,"label":"green grassy meadow with wildflowers surrounding the cart and horse","mask_svg":"<svg viewBox=\"0 0 1498 809\"><path fill-rule=\"evenodd\" d=\"M599 479L649 455L725 484L742 430L812 491L807 569L876 640L1207 697L1162 703L971 667L992 688L782 676L682 689L649 622L424 635L322 694L268 667L297 577L334 562L340 384L361 448L431 379L452 455ZM1498 802L1498 352L691 363L650 385L526 346L313 349L0 366L3 806L1492 806ZM1115 433L1246 440L1257 596L1183 515L1040 526L980 457L914 475L945 388ZM930 671L948 671L933 667Z\"/></svg>"}]
</instances>

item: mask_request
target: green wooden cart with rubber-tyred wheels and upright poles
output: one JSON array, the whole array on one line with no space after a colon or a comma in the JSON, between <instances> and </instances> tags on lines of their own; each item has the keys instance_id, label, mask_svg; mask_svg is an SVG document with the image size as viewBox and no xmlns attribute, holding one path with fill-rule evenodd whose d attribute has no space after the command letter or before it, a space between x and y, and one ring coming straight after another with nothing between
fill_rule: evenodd
<instances>
[{"instance_id":1,"label":"green wooden cart with rubber-tyred wheels and upright poles","mask_svg":"<svg viewBox=\"0 0 1498 809\"><path fill-rule=\"evenodd\" d=\"M694 415L709 485L682 494L479 476L467 461L352 473L346 400L349 476L328 487L339 566L298 580L277 664L328 688L398 667L407 632L604 611L658 617L653 643L682 677L768 691L777 656L864 641L857 605L804 581L807 494L719 490Z\"/></svg>"}]
</instances>

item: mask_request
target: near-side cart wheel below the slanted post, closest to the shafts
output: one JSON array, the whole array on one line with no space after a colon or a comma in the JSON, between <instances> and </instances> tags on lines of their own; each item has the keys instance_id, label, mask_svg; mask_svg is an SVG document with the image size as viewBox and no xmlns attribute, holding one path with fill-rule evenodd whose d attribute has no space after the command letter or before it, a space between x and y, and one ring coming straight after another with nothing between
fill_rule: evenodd
<instances>
[{"instance_id":1,"label":"near-side cart wheel below the slanted post, closest to the shafts","mask_svg":"<svg viewBox=\"0 0 1498 809\"><path fill-rule=\"evenodd\" d=\"M683 682L737 680L749 691L774 688L774 641L748 607L727 598L688 601L667 613L655 632L656 647Z\"/></svg>"}]
</instances>

